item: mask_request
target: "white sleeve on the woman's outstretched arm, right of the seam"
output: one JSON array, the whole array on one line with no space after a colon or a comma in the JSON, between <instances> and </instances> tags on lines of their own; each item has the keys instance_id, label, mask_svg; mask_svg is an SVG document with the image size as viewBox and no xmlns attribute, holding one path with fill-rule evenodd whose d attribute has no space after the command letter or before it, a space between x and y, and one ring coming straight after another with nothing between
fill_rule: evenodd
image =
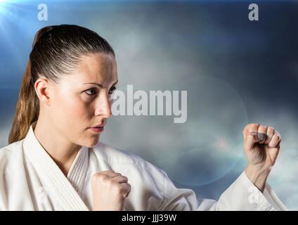
<instances>
[{"instance_id":1,"label":"white sleeve on the woman's outstretched arm, right of the seam","mask_svg":"<svg viewBox=\"0 0 298 225\"><path fill-rule=\"evenodd\" d=\"M268 184L261 193L245 172L222 193L217 202L197 200L193 190L176 188L169 176L165 172L163 174L164 200L158 210L287 210Z\"/></svg>"}]
</instances>

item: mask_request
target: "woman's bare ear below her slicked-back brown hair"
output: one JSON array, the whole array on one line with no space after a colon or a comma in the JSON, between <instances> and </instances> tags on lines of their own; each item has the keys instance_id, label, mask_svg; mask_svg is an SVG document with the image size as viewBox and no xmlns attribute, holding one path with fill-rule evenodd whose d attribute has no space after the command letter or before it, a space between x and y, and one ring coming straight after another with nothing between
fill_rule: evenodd
<instances>
[{"instance_id":1,"label":"woman's bare ear below her slicked-back brown hair","mask_svg":"<svg viewBox=\"0 0 298 225\"><path fill-rule=\"evenodd\" d=\"M34 89L37 93L40 103L45 105L50 105L51 102L51 84L45 77L40 77L34 84Z\"/></svg>"}]
</instances>

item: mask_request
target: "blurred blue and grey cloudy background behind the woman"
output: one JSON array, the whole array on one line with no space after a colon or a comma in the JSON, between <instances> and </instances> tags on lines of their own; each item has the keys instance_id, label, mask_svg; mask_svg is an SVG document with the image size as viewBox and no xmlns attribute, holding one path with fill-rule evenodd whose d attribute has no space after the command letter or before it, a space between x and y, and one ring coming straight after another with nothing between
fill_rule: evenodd
<instances>
[{"instance_id":1,"label":"blurred blue and grey cloudy background behind the woman","mask_svg":"<svg viewBox=\"0 0 298 225\"><path fill-rule=\"evenodd\" d=\"M37 19L38 4L48 20ZM281 152L269 176L298 210L298 1L0 0L0 147L8 144L15 103L35 32L76 24L116 51L119 89L187 90L188 120L112 117L101 141L164 169L197 198L218 199L245 169L242 129L276 127Z\"/></svg>"}]
</instances>

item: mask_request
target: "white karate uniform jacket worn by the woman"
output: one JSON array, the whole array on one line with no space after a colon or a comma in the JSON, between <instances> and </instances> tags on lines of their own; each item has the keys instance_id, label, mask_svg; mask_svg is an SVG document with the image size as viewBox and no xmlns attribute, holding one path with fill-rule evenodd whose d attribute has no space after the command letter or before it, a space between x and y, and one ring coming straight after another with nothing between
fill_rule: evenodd
<instances>
[{"instance_id":1,"label":"white karate uniform jacket worn by the woman","mask_svg":"<svg viewBox=\"0 0 298 225\"><path fill-rule=\"evenodd\" d=\"M219 200L198 200L132 153L99 142L79 150L67 177L42 148L32 125L25 139L0 149L0 210L92 210L91 177L112 169L129 179L124 210L286 210L266 184L261 193L243 172Z\"/></svg>"}]
</instances>

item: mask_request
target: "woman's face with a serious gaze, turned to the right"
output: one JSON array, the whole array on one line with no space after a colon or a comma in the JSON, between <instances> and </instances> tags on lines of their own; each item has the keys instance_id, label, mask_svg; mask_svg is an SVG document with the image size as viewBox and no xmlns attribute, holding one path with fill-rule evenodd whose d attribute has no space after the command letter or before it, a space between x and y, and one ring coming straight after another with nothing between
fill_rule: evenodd
<instances>
[{"instance_id":1,"label":"woman's face with a serious gaze, turned to the right","mask_svg":"<svg viewBox=\"0 0 298 225\"><path fill-rule=\"evenodd\" d=\"M72 143L96 146L102 131L90 129L105 125L112 115L112 92L117 84L115 57L108 53L82 56L78 67L51 84L51 101L46 107L49 122Z\"/></svg>"}]
</instances>

